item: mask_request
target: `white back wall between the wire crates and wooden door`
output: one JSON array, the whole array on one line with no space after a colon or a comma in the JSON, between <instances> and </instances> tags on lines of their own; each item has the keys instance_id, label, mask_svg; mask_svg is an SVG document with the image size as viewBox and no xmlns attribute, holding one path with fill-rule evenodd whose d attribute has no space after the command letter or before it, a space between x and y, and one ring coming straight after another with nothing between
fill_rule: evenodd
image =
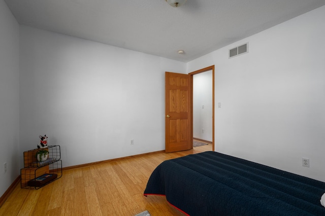
<instances>
[{"instance_id":1,"label":"white back wall between the wire crates and wooden door","mask_svg":"<svg viewBox=\"0 0 325 216\"><path fill-rule=\"evenodd\" d=\"M165 71L186 64L21 26L22 151L44 134L64 167L164 150Z\"/></svg>"}]
</instances>

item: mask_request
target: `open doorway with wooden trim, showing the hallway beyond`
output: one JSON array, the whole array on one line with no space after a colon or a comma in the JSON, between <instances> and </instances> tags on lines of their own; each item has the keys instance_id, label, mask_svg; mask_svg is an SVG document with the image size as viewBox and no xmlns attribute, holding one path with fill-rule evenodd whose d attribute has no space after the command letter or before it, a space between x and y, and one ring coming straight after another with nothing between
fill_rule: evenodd
<instances>
[{"instance_id":1,"label":"open doorway with wooden trim, showing the hallway beyond","mask_svg":"<svg viewBox=\"0 0 325 216\"><path fill-rule=\"evenodd\" d=\"M189 75L192 86L192 143L207 143L207 151L214 151L214 65Z\"/></svg>"}]
</instances>

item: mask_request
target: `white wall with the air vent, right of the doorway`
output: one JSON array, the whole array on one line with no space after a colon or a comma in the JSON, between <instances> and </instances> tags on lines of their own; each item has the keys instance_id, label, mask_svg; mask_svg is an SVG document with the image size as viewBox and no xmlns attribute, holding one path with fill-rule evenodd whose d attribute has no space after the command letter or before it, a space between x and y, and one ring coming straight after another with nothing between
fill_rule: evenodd
<instances>
[{"instance_id":1,"label":"white wall with the air vent, right of the doorway","mask_svg":"<svg viewBox=\"0 0 325 216\"><path fill-rule=\"evenodd\" d=\"M324 20L325 6L188 63L215 65L216 151L325 181Z\"/></svg>"}]
</instances>

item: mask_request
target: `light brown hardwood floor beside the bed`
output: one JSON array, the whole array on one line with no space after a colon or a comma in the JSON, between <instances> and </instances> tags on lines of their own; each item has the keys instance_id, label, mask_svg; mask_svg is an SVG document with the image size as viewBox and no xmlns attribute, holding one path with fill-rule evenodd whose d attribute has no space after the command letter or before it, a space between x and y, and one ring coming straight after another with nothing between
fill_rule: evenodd
<instances>
[{"instance_id":1,"label":"light brown hardwood floor beside the bed","mask_svg":"<svg viewBox=\"0 0 325 216\"><path fill-rule=\"evenodd\" d=\"M0 207L0 215L184 215L164 196L143 196L148 178L161 162L211 151L212 145L176 153L157 153L127 160L64 170L61 178L39 189L20 184Z\"/></svg>"}]
</instances>

